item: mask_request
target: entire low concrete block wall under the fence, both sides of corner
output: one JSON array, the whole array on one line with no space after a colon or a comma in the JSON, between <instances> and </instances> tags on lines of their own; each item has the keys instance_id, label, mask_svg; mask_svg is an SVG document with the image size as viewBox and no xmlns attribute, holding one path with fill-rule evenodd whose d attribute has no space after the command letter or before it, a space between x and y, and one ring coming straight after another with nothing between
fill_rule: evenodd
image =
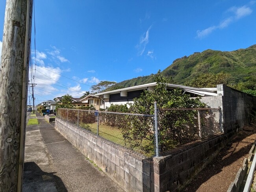
<instances>
[{"instance_id":1,"label":"entire low concrete block wall under the fence, both sides of corner","mask_svg":"<svg viewBox=\"0 0 256 192\"><path fill-rule=\"evenodd\" d=\"M128 192L181 190L230 138L222 134L179 147L165 156L144 158L59 118L55 129Z\"/></svg>"}]
</instances>

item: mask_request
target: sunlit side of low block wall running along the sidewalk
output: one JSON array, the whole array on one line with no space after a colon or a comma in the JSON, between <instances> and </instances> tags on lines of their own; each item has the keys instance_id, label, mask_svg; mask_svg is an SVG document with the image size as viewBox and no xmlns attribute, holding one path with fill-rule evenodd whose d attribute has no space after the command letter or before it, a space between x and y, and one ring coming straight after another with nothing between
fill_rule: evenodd
<instances>
[{"instance_id":1,"label":"sunlit side of low block wall running along the sidewalk","mask_svg":"<svg viewBox=\"0 0 256 192\"><path fill-rule=\"evenodd\" d=\"M152 162L130 150L56 118L55 129L126 191L150 191Z\"/></svg>"}]
</instances>

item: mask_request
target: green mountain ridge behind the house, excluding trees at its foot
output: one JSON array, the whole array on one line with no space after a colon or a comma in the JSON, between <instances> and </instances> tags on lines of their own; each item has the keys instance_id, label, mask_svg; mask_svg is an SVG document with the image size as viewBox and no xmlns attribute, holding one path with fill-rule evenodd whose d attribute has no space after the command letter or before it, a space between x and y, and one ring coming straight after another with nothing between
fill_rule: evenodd
<instances>
[{"instance_id":1,"label":"green mountain ridge behind the house, excluding trees at its foot","mask_svg":"<svg viewBox=\"0 0 256 192\"><path fill-rule=\"evenodd\" d=\"M173 61L164 69L163 76L171 76L173 83L185 85L200 74L229 74L228 85L239 83L256 83L256 45L236 51L215 51L207 49L201 53L195 52ZM152 83L152 75L137 77L119 82L111 90ZM254 89L255 90L255 86Z\"/></svg>"}]
</instances>

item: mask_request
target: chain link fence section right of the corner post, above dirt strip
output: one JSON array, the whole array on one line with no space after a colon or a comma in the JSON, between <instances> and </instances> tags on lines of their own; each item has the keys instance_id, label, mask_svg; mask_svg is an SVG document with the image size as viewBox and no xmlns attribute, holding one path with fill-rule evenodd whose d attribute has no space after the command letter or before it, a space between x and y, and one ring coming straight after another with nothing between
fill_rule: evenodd
<instances>
[{"instance_id":1,"label":"chain link fence section right of the corner post, above dirt strip","mask_svg":"<svg viewBox=\"0 0 256 192\"><path fill-rule=\"evenodd\" d=\"M160 150L184 145L221 133L219 109L159 109Z\"/></svg>"}]
</instances>

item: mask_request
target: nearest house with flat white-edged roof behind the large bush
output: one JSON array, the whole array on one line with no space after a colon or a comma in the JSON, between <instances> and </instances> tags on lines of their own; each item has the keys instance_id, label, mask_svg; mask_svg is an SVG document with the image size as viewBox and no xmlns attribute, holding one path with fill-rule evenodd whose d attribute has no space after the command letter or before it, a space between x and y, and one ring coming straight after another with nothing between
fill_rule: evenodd
<instances>
[{"instance_id":1,"label":"nearest house with flat white-edged roof behind the large bush","mask_svg":"<svg viewBox=\"0 0 256 192\"><path fill-rule=\"evenodd\" d=\"M153 91L157 83L148 83L144 85L137 85L134 87L127 87L123 89L117 89L114 91L107 91L91 95L90 104L92 103L96 109L106 109L111 104L128 104L133 103L133 99L141 95L144 90ZM195 88L187 87L183 85L174 85L167 84L167 90L173 90L180 88L183 91L183 94L189 94L191 97L197 96L217 96L217 87L216 88ZM92 101L91 101L92 100Z\"/></svg>"}]
</instances>

